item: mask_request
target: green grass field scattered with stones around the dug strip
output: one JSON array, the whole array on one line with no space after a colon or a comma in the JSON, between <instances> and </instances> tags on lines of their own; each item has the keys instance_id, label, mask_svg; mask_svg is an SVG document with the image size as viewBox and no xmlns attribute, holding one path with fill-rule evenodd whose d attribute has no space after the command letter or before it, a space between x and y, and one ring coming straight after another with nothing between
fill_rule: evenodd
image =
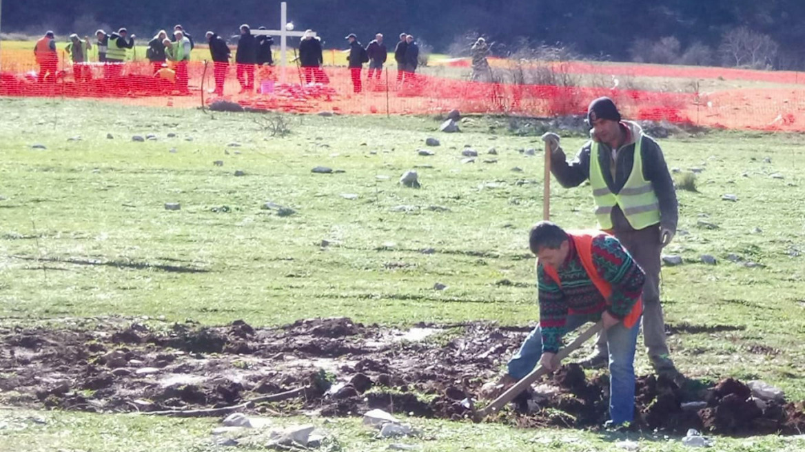
<instances>
[{"instance_id":1,"label":"green grass field scattered with stones around the dug strip","mask_svg":"<svg viewBox=\"0 0 805 452\"><path fill-rule=\"evenodd\" d=\"M436 135L428 117L288 116L291 135L272 138L246 113L19 99L0 108L0 327L142 316L254 326L333 315L402 326L539 317L526 233L542 211L542 146L510 135L506 119L473 118L463 134ZM157 139L132 142L135 134ZM429 136L442 144L419 156ZM573 152L583 142L563 145ZM685 262L663 269L672 353L690 376L759 378L805 399L803 142L732 132L661 142L669 166L702 170L698 192L679 191L680 233L667 249ZM461 162L465 145L476 162ZM485 155L489 147L497 155ZM535 157L518 152L529 147ZM314 166L345 172L317 175ZM422 188L399 186L417 166ZM296 213L278 216L262 209L267 201ZM555 184L551 203L559 224L592 226L588 187ZM700 263L701 254L718 264ZM496 284L503 279L515 284ZM436 282L448 289L433 290ZM638 368L647 370L643 354ZM618 450L583 432L414 422L432 432L425 450ZM326 428L343 450L386 450L358 424ZM211 425L4 409L0 450L206 450ZM677 439L645 437L640 450L683 450ZM719 438L719 450L801 450L797 441Z\"/></svg>"}]
</instances>

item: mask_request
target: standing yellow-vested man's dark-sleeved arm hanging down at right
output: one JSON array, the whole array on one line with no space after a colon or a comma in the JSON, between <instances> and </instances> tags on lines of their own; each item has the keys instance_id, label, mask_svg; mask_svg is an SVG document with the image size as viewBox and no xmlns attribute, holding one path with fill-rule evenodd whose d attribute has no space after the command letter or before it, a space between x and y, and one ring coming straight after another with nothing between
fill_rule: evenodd
<instances>
[{"instance_id":1,"label":"standing yellow-vested man's dark-sleeved arm hanging down at right","mask_svg":"<svg viewBox=\"0 0 805 452\"><path fill-rule=\"evenodd\" d=\"M676 189L668 165L657 142L651 138L643 138L641 146L643 158L643 175L654 187L654 194L659 201L660 225L663 229L676 232L679 221L679 202L676 199Z\"/></svg>"}]
</instances>

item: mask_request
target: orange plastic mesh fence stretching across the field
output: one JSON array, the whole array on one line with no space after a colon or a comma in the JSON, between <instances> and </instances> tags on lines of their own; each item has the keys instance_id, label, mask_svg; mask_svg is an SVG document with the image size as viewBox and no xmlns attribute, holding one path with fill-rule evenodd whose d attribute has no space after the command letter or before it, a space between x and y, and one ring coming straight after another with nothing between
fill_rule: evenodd
<instances>
[{"instance_id":1,"label":"orange plastic mesh fence stretching across the field","mask_svg":"<svg viewBox=\"0 0 805 452\"><path fill-rule=\"evenodd\" d=\"M342 114L498 113L553 117L585 113L589 101L609 96L625 117L729 129L805 131L805 84L796 72L651 65L563 63L562 71L605 76L733 76L780 84L708 94L650 90L481 83L455 78L348 68L297 68L148 62L43 64L3 55L0 96L95 98L128 105L197 107L213 101L283 112ZM31 55L32 56L32 55ZM493 66L500 62L493 62ZM379 75L378 75L379 74ZM717 75L716 75L717 74ZM805 78L805 77L803 77ZM217 81L218 80L218 81ZM803 80L805 83L805 80ZM359 85L359 89L356 85ZM245 88L244 88L245 87ZM216 92L217 91L217 92Z\"/></svg>"}]
</instances>

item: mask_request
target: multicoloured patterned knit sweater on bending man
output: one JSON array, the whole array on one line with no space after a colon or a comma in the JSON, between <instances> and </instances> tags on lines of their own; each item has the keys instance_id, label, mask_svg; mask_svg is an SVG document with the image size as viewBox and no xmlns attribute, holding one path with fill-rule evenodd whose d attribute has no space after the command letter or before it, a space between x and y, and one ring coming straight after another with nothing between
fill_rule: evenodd
<instances>
[{"instance_id":1,"label":"multicoloured patterned knit sweater on bending man","mask_svg":"<svg viewBox=\"0 0 805 452\"><path fill-rule=\"evenodd\" d=\"M592 239L592 263L612 285L612 295L605 300L581 265L573 240L570 253L559 269L562 286L537 265L539 284L539 326L543 333L543 352L559 351L568 314L585 315L591 322L601 319L605 310L615 318L624 318L642 294L646 275L613 236Z\"/></svg>"}]
</instances>

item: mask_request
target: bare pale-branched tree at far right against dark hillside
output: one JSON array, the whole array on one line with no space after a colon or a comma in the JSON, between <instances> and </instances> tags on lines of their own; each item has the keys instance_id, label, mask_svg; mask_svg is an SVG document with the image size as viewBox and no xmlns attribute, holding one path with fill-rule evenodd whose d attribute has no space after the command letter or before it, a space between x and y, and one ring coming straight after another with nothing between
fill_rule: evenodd
<instances>
[{"instance_id":1,"label":"bare pale-branched tree at far right against dark hillside","mask_svg":"<svg viewBox=\"0 0 805 452\"><path fill-rule=\"evenodd\" d=\"M727 31L720 52L725 64L749 68L772 68L779 46L769 35L740 27Z\"/></svg>"}]
</instances>

